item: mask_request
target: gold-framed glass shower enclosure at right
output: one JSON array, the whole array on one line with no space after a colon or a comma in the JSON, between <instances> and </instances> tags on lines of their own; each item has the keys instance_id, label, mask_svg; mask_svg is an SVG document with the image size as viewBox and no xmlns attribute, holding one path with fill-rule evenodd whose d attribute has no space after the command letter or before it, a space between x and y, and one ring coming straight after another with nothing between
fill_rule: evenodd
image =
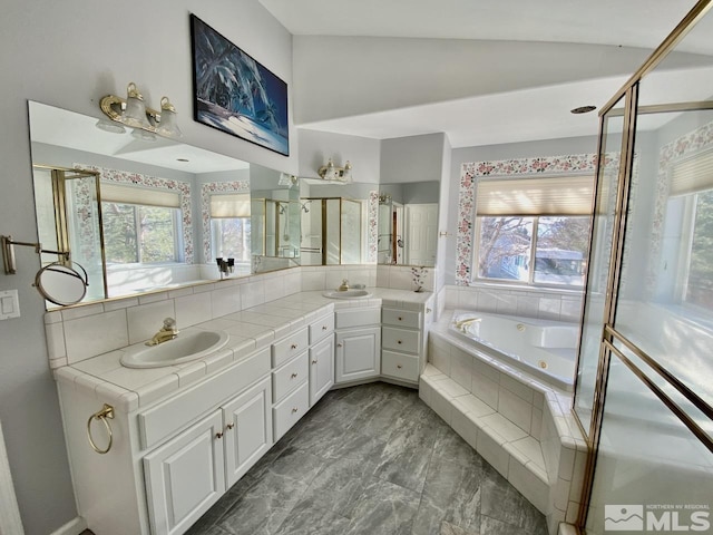
<instances>
[{"instance_id":1,"label":"gold-framed glass shower enclosure at right","mask_svg":"<svg viewBox=\"0 0 713 535\"><path fill-rule=\"evenodd\" d=\"M712 4L600 113L574 400L587 534L713 533Z\"/></svg>"}]
</instances>

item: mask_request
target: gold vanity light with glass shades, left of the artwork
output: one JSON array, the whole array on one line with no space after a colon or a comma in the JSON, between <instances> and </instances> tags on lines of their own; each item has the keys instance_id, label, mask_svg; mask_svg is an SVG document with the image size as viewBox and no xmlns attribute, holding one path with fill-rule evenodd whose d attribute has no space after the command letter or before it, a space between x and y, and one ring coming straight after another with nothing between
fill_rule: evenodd
<instances>
[{"instance_id":1,"label":"gold vanity light with glass shades, left of the artwork","mask_svg":"<svg viewBox=\"0 0 713 535\"><path fill-rule=\"evenodd\" d=\"M176 121L176 108L168 97L162 97L160 111L146 106L144 96L133 81L126 86L126 99L107 95L99 103L101 111L113 121L134 128L134 137L152 140L154 134L165 137L180 137L183 134ZM97 127L107 132L123 133L119 125L100 119Z\"/></svg>"}]
</instances>

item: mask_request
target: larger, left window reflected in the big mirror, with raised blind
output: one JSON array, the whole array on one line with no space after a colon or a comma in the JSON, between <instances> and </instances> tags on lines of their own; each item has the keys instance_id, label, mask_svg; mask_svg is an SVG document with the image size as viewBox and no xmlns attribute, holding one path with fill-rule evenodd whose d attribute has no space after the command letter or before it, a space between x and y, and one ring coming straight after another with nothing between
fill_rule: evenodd
<instances>
[{"instance_id":1,"label":"larger, left window reflected in the big mirror, with raised blind","mask_svg":"<svg viewBox=\"0 0 713 535\"><path fill-rule=\"evenodd\" d=\"M101 184L101 222L108 264L180 262L177 194Z\"/></svg>"}]
</instances>

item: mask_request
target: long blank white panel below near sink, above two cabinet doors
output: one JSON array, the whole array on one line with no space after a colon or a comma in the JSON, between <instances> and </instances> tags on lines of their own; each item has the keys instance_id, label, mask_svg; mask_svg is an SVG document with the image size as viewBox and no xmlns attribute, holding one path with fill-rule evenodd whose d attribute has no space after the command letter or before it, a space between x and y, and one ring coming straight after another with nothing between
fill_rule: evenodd
<instances>
[{"instance_id":1,"label":"long blank white panel below near sink, above two cabinet doors","mask_svg":"<svg viewBox=\"0 0 713 535\"><path fill-rule=\"evenodd\" d=\"M141 448L157 444L260 378L268 377L268 373L270 351L264 348L225 371L140 412L138 428Z\"/></svg>"}]
</instances>

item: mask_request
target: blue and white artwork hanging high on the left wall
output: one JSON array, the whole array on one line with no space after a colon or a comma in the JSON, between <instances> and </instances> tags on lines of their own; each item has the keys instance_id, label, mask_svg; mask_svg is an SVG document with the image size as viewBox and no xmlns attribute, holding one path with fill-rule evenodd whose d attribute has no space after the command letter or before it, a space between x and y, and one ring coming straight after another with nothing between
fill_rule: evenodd
<instances>
[{"instance_id":1,"label":"blue and white artwork hanging high on the left wall","mask_svg":"<svg viewBox=\"0 0 713 535\"><path fill-rule=\"evenodd\" d=\"M194 119L290 155L287 85L191 16Z\"/></svg>"}]
</instances>

